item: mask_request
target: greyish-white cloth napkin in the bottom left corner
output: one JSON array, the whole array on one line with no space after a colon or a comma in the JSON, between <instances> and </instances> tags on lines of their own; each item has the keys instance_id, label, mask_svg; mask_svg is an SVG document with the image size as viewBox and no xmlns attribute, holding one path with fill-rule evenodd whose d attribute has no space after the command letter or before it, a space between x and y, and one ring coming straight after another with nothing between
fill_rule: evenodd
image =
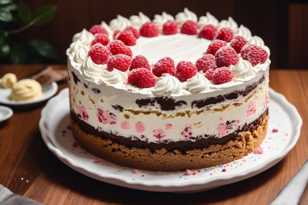
<instances>
[{"instance_id":1,"label":"greyish-white cloth napkin in the bottom left corner","mask_svg":"<svg viewBox=\"0 0 308 205\"><path fill-rule=\"evenodd\" d=\"M29 198L14 194L0 184L0 205L43 205Z\"/></svg>"}]
</instances>

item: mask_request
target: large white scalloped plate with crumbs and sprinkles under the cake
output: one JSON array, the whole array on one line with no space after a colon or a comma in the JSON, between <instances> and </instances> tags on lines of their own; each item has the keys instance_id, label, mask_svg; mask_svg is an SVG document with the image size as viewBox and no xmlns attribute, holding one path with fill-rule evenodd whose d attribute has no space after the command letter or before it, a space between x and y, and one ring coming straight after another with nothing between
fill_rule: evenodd
<instances>
[{"instance_id":1,"label":"large white scalloped plate with crumbs and sprinkles under the cake","mask_svg":"<svg viewBox=\"0 0 308 205\"><path fill-rule=\"evenodd\" d=\"M185 172L150 172L97 159L76 146L70 131L68 89L50 99L41 113L39 129L47 147L66 165L94 179L139 190L190 193L212 189L255 176L277 164L297 143L302 118L283 95L270 89L270 120L263 154L249 154L216 167ZM53 119L53 120L50 120ZM224 172L222 171L223 169Z\"/></svg>"}]
</instances>

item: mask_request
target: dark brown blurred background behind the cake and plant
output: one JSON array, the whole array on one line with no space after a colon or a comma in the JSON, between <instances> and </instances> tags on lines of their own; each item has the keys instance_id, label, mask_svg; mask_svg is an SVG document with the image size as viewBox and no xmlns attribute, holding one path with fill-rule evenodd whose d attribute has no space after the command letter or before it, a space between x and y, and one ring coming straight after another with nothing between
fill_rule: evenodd
<instances>
[{"instance_id":1,"label":"dark brown blurred background behind the cake and plant","mask_svg":"<svg viewBox=\"0 0 308 205\"><path fill-rule=\"evenodd\" d=\"M231 16L252 35L263 38L271 49L272 68L308 68L308 0L23 0L31 9L53 4L54 19L32 27L25 35L41 37L56 47L66 63L65 50L73 34L101 21L109 23L117 14L129 18L142 11L150 19L162 11L175 16L185 7L198 17L209 11L218 21Z\"/></svg>"}]
</instances>

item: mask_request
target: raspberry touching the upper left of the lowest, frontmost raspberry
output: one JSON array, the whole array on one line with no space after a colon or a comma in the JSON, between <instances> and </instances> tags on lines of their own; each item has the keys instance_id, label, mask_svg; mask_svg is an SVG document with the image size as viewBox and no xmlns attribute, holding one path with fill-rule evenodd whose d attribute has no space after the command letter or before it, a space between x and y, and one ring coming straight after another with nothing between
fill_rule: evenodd
<instances>
[{"instance_id":1,"label":"raspberry touching the upper left of the lowest, frontmost raspberry","mask_svg":"<svg viewBox=\"0 0 308 205\"><path fill-rule=\"evenodd\" d=\"M114 68L125 72L130 65L131 58L123 54L111 56L107 60L107 69L112 71Z\"/></svg>"}]
</instances>

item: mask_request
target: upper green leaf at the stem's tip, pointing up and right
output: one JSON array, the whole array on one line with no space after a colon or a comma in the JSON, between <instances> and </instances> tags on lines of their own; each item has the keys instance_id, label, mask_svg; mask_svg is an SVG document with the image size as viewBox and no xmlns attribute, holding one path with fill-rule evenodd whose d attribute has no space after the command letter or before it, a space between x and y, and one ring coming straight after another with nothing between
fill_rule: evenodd
<instances>
[{"instance_id":1,"label":"upper green leaf at the stem's tip, pointing up and right","mask_svg":"<svg viewBox=\"0 0 308 205\"><path fill-rule=\"evenodd\" d=\"M51 21L57 11L57 6L54 5L45 5L40 8L38 8L34 12L34 18L36 20L36 23L34 25L41 26L46 24L47 22Z\"/></svg>"}]
</instances>

